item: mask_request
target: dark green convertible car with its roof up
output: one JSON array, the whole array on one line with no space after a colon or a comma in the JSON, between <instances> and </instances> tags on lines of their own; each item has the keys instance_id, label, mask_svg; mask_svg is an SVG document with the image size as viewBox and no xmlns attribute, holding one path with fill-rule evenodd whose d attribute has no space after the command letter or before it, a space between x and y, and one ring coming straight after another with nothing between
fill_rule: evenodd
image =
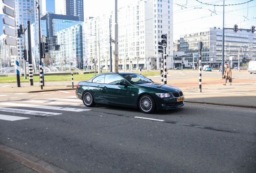
<instances>
[{"instance_id":1,"label":"dark green convertible car with its roof up","mask_svg":"<svg viewBox=\"0 0 256 173\"><path fill-rule=\"evenodd\" d=\"M80 81L76 86L76 97L87 107L99 103L139 108L143 113L184 106L180 89L132 72L106 72Z\"/></svg>"}]
</instances>

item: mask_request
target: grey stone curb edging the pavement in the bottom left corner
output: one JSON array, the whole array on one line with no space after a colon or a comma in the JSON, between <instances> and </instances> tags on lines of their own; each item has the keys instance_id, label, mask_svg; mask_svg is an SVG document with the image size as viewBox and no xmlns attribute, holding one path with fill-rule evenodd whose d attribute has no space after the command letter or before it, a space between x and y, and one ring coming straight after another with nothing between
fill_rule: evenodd
<instances>
[{"instance_id":1,"label":"grey stone curb edging the pavement in the bottom left corner","mask_svg":"<svg viewBox=\"0 0 256 173\"><path fill-rule=\"evenodd\" d=\"M8 149L8 151L6 149ZM29 167L39 173L68 173L67 171L65 171L63 169L60 169L60 168L58 168L54 165L51 165L45 161L39 160L39 159L37 159L31 155L28 155L26 153L22 153L21 151L18 152L18 153L20 153L19 155L14 154L14 152L17 152L17 151L18 150L12 149L10 147L0 145L0 154L2 154L14 161L17 161L18 163L21 163L22 165L25 165L26 167ZM34 161L31 161L29 159L26 159L20 155L25 155L27 158L30 158L31 160L34 159L39 164L37 164Z\"/></svg>"}]
</instances>

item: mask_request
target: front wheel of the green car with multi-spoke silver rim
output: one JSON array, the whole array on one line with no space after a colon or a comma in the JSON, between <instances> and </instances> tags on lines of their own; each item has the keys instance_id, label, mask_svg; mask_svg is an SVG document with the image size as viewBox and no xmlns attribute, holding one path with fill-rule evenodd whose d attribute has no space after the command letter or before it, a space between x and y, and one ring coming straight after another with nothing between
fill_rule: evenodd
<instances>
[{"instance_id":1,"label":"front wheel of the green car with multi-spoke silver rim","mask_svg":"<svg viewBox=\"0 0 256 173\"><path fill-rule=\"evenodd\" d=\"M142 95L138 101L142 113L153 113L156 109L155 101L150 95Z\"/></svg>"}]
</instances>

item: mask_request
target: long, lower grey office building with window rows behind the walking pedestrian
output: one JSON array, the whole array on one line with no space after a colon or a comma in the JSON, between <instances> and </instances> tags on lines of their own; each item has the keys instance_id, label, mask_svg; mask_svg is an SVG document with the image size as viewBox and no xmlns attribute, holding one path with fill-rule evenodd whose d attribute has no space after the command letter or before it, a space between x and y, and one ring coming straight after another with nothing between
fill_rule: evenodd
<instances>
[{"instance_id":1,"label":"long, lower grey office building with window rows behind the walking pedestrian","mask_svg":"<svg viewBox=\"0 0 256 173\"><path fill-rule=\"evenodd\" d=\"M249 31L225 30L224 52L222 51L222 29L209 28L200 32L184 34L180 36L180 51L186 54L185 59L188 63L185 66L191 66L193 63L193 54L198 54L198 42L203 42L202 65L219 66L224 61L231 66L238 66L238 60L241 65L246 65L250 60L256 58L256 35ZM194 58L194 63L198 58Z\"/></svg>"}]
</instances>

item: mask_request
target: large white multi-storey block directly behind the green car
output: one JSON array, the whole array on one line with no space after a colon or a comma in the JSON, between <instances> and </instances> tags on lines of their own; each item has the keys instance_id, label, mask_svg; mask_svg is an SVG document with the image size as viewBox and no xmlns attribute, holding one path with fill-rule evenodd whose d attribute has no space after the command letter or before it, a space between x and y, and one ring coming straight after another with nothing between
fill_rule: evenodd
<instances>
[{"instance_id":1,"label":"large white multi-storey block directly behind the green car","mask_svg":"<svg viewBox=\"0 0 256 173\"><path fill-rule=\"evenodd\" d=\"M140 0L118 9L119 68L148 68L157 66L161 54L158 42L167 34L166 52L173 55L173 6L172 1ZM87 68L92 68L92 59L100 57L101 66L109 64L109 19L110 12L83 22L83 57ZM111 26L112 29L112 26ZM111 33L112 35L112 33ZM173 66L173 59L167 58L167 68Z\"/></svg>"}]
</instances>

